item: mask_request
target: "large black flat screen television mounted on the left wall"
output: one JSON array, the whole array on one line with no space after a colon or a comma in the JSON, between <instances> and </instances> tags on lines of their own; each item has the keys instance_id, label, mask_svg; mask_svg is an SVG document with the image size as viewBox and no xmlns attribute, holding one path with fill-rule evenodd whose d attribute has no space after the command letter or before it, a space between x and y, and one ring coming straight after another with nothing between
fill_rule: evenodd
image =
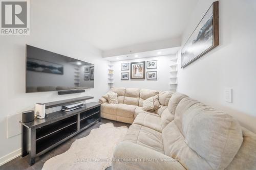
<instances>
[{"instance_id":1,"label":"large black flat screen television mounted on the left wall","mask_svg":"<svg viewBox=\"0 0 256 170\"><path fill-rule=\"evenodd\" d=\"M26 93L94 88L94 64L26 45Z\"/></svg>"}]
</instances>

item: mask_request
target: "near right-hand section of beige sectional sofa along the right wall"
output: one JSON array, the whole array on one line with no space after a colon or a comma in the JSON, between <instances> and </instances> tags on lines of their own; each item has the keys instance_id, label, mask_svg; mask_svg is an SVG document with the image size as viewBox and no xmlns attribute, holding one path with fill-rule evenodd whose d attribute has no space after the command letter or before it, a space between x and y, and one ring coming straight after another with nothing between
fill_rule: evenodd
<instances>
[{"instance_id":1,"label":"near right-hand section of beige sectional sofa along the right wall","mask_svg":"<svg viewBox=\"0 0 256 170\"><path fill-rule=\"evenodd\" d=\"M136 93L145 100L141 91L149 97L154 90ZM165 94L162 99L161 93ZM181 93L159 92L159 100L163 111L155 113L132 106L135 119L115 149L113 170L256 169L256 134L236 119ZM103 108L108 106L102 102ZM116 109L121 106L116 104Z\"/></svg>"}]
</instances>

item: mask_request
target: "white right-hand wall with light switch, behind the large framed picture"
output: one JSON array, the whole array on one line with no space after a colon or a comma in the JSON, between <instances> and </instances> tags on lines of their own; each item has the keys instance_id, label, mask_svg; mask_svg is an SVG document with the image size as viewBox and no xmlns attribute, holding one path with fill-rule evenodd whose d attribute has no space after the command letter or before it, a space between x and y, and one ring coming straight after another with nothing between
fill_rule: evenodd
<instances>
[{"instance_id":1,"label":"white right-hand wall with light switch, behind the large framed picture","mask_svg":"<svg viewBox=\"0 0 256 170\"><path fill-rule=\"evenodd\" d=\"M200 0L190 18L182 46L212 0ZM178 69L178 91L236 117L256 132L256 1L220 0L220 45L184 69ZM180 64L180 55L178 63ZM233 89L233 103L224 99Z\"/></svg>"}]
</instances>

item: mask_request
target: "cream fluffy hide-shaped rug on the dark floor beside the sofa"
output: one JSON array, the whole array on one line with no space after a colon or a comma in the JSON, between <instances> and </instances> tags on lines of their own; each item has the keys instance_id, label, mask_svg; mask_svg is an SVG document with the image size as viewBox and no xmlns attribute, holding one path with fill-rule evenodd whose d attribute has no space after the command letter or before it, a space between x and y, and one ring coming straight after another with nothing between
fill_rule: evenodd
<instances>
[{"instance_id":1,"label":"cream fluffy hide-shaped rug on the dark floor beside the sofa","mask_svg":"<svg viewBox=\"0 0 256 170\"><path fill-rule=\"evenodd\" d=\"M102 124L88 136L75 140L65 153L47 160L42 170L104 170L111 166L115 146L126 132L125 126Z\"/></svg>"}]
</instances>

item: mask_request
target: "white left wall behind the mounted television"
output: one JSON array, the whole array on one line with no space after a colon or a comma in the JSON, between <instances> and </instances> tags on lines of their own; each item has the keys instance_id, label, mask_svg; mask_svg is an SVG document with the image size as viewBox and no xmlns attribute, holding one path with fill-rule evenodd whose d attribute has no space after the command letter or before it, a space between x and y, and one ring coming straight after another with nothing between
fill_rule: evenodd
<instances>
[{"instance_id":1,"label":"white left wall behind the mounted television","mask_svg":"<svg viewBox=\"0 0 256 170\"><path fill-rule=\"evenodd\" d=\"M19 154L20 149L20 135L7 138L8 115L31 110L35 103L75 98L82 95L92 95L94 96L93 101L98 101L100 96L108 91L107 61L102 59L101 51L89 45L81 39L81 36L73 35L76 32L76 27L69 25L69 20L72 19L71 15L75 15L77 12L73 7L73 2L62 3L61 7L63 8L59 8L59 5L59 2L53 3L53 1L30 1L30 35L0 37L0 161L15 156L15 151ZM65 8L69 10L62 11ZM60 16L66 20L58 19ZM86 93L61 96L57 95L57 92L26 94L25 44L95 64L95 88L87 89ZM15 126L17 125L11 127ZM19 129L17 129L18 131Z\"/></svg>"}]
</instances>

